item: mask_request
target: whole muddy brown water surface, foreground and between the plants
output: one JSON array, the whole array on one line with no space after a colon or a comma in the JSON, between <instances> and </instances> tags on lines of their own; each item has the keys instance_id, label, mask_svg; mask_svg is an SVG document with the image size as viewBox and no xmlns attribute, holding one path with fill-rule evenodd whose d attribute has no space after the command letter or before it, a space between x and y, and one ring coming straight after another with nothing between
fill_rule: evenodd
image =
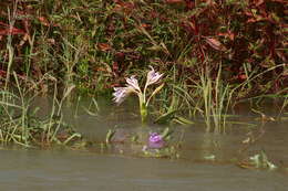
<instances>
[{"instance_id":1,"label":"whole muddy brown water surface, foreground and between the plants","mask_svg":"<svg viewBox=\"0 0 288 191\"><path fill-rule=\"evenodd\" d=\"M41 102L40 102L41 103ZM112 107L112 106L111 106ZM123 108L117 108L123 109ZM68 109L65 120L88 139L104 141L111 127L125 131L138 129L130 110L102 116L80 112L74 118ZM288 123L260 123L254 127L233 126L226 134L205 132L203 125L172 127L181 137L178 159L143 158L128 149L0 149L0 190L79 191L79 190L187 190L187 191L287 191ZM163 127L150 127L148 130ZM248 136L265 134L249 147ZM125 147L121 145L120 147ZM113 148L116 148L115 146ZM278 170L244 169L237 162L265 150ZM205 157L214 156L214 160Z\"/></svg>"}]
</instances>

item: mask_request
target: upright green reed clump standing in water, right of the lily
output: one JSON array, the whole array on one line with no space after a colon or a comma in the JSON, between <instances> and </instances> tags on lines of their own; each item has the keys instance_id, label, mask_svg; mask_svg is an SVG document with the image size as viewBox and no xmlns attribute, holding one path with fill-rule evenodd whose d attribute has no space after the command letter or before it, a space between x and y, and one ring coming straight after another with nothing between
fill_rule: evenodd
<instances>
[{"instance_id":1,"label":"upright green reed clump standing in water, right of the lily","mask_svg":"<svg viewBox=\"0 0 288 191\"><path fill-rule=\"evenodd\" d=\"M230 87L222 79L222 66L213 79L208 66L199 70L199 82L194 81L197 92L197 110L204 117L207 131L225 131L228 108L232 104Z\"/></svg>"}]
</instances>

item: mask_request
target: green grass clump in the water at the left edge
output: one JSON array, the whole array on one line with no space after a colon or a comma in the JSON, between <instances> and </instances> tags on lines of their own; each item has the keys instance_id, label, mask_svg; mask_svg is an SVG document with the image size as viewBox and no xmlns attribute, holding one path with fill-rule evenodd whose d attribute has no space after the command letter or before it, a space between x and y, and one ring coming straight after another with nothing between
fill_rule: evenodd
<instances>
[{"instance_id":1,"label":"green grass clump in the water at the left edge","mask_svg":"<svg viewBox=\"0 0 288 191\"><path fill-rule=\"evenodd\" d=\"M56 98L56 83L52 98L52 110L44 119L37 117L37 108L32 108L33 98L20 86L16 73L13 77L17 92L1 91L0 110L0 142L17 144L24 147L47 147L53 144L68 145L81 139L73 127L63 121L62 106L73 88L68 88L60 100Z\"/></svg>"}]
</instances>

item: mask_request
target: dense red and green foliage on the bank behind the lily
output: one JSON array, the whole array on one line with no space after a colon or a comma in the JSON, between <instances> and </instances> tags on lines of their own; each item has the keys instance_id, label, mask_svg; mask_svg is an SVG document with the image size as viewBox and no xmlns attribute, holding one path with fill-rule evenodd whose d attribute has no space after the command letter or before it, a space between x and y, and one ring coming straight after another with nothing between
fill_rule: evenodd
<instances>
[{"instance_id":1,"label":"dense red and green foliage on the bank behind the lily","mask_svg":"<svg viewBox=\"0 0 288 191\"><path fill-rule=\"evenodd\" d=\"M16 72L23 86L31 81L43 91L50 89L41 81L49 73L83 93L107 93L152 60L165 74L175 71L167 81L175 78L178 89L166 89L165 97L169 105L175 96L173 112L195 106L191 81L200 84L195 71L209 57L213 79L222 64L225 85L246 82L233 99L287 92L284 1L150 2L1 1L0 79L9 86Z\"/></svg>"}]
</instances>

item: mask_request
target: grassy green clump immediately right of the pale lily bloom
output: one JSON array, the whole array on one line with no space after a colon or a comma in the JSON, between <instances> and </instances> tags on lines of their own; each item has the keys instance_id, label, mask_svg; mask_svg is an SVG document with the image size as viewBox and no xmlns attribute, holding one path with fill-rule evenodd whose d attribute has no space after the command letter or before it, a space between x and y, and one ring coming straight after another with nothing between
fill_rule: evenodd
<instances>
[{"instance_id":1,"label":"grassy green clump immediately right of the pale lily bloom","mask_svg":"<svg viewBox=\"0 0 288 191\"><path fill-rule=\"evenodd\" d=\"M163 89L156 102L153 102L155 119L157 124L182 124L191 125L192 117L195 117L195 99L191 86L186 84L187 77L177 77L178 70L173 66L167 72L165 79L166 88ZM161 105L157 105L161 103Z\"/></svg>"}]
</instances>

